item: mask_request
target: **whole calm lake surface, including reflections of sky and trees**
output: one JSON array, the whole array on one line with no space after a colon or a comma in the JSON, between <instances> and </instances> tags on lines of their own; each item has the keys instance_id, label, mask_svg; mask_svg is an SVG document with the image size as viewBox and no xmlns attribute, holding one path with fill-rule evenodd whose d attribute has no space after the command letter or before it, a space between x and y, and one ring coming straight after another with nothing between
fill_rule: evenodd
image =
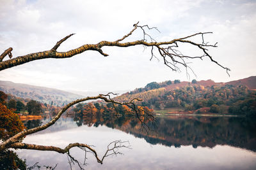
<instances>
[{"instance_id":1,"label":"whole calm lake surface, including reflections of sky and trees","mask_svg":"<svg viewBox=\"0 0 256 170\"><path fill-rule=\"evenodd\" d=\"M28 128L48 122L29 120ZM141 129L136 118L60 118L56 124L24 139L25 143L54 145L69 143L93 145L101 158L109 143L129 141L130 148L120 148L123 155L109 156L97 163L92 153L86 155L84 169L256 169L255 122L241 117L157 117ZM26 164L70 169L66 154L17 150ZM84 152L73 148L71 155L84 162ZM72 169L79 169L72 164Z\"/></svg>"}]
</instances>

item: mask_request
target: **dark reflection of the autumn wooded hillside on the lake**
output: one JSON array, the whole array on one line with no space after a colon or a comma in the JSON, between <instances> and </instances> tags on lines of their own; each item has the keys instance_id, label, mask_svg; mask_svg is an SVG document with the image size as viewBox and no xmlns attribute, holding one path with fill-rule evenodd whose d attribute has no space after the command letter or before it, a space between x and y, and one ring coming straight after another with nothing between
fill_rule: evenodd
<instances>
[{"instance_id":1,"label":"dark reflection of the autumn wooded hillside on the lake","mask_svg":"<svg viewBox=\"0 0 256 170\"><path fill-rule=\"evenodd\" d=\"M255 120L241 117L157 117L157 126L147 122L152 131L141 131L136 117L91 117L74 118L77 125L120 129L151 144L166 146L214 147L230 145L256 151ZM147 121L147 120L145 120Z\"/></svg>"}]
</instances>

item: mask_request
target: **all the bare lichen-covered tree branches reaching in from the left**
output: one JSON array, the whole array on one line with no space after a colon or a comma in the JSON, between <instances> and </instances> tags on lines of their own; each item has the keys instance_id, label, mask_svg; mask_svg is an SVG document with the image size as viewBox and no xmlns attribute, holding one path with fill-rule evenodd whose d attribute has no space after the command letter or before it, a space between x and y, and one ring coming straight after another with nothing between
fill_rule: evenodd
<instances>
[{"instance_id":1,"label":"all the bare lichen-covered tree branches reaching in from the left","mask_svg":"<svg viewBox=\"0 0 256 170\"><path fill-rule=\"evenodd\" d=\"M139 23L139 22L138 22ZM124 35L122 38L117 39L116 41L100 41L97 44L86 44L82 45L78 48L69 50L68 52L57 52L58 47L66 41L70 36L74 34L70 34L66 36L65 38L61 39L52 47L51 50L46 50L44 52L36 52L36 53L29 53L27 55L23 55L20 57L14 57L13 59L8 59L8 60L3 60L6 55L9 55L10 58L12 58L12 50L13 48L8 48L5 50L4 53L0 55L0 71L13 67L13 66L19 66L21 64L25 64L26 62L31 62L33 60L39 60L39 59L48 59L48 58L55 58L55 59L64 59L68 57L72 57L74 55L77 55L79 53L83 53L88 50L95 50L99 52L101 55L104 55L105 57L108 56L108 54L104 53L102 51L103 46L119 46L119 47L129 47L129 46L135 46L135 45L143 45L143 46L149 46L151 48L151 58L156 57L156 58L161 58L163 59L163 63L170 67L173 71L179 70L180 66L189 68L188 66L188 59L203 59L204 57L208 57L211 59L212 62L218 64L218 66L223 67L223 69L226 69L227 73L230 71L227 67L222 66L219 64L216 60L212 59L212 56L207 52L207 48L212 48L212 47L217 47L215 43L214 45L210 45L209 43L205 43L204 41L204 35L205 34L211 34L212 32L198 32L196 34L192 34L190 36L186 36L183 38L177 38L173 39L171 41L162 41L162 42L157 42L154 38L152 38L147 31L150 29L158 29L156 27L148 27L148 25L138 25L138 23L133 25L133 29L126 35ZM143 33L142 36L143 38L140 40L136 41L131 41L131 42L124 42L125 38L129 37L132 35L134 31L137 29L140 29ZM189 38L193 38L195 36L201 36L202 37L202 42L201 43L196 43L194 41L189 40ZM179 44L180 43L185 43L191 46L194 46L196 49L200 50L202 52L202 55L200 56L188 56L188 55L183 55L182 52L179 51ZM49 151L54 151L58 153L67 153L70 162L76 162L76 160L70 155L69 150L74 147L79 147L85 151L90 151L93 153L95 158L97 159L97 162L102 164L102 161L104 157L107 155L111 154L117 154L118 152L115 151L115 148L120 148L121 146L124 147L125 145L122 145L121 141L115 141L114 142L114 147L113 148L108 148L106 154L102 159L99 159L97 152L93 150L93 148L90 145L86 145L83 143L70 143L67 147L65 148L59 148L56 146L42 146L42 145L34 145L34 144L28 144L28 143L22 143L22 139L25 136L28 136L29 134L33 134L38 131L42 131L44 129L47 129L51 125L53 125L58 118L61 117L61 115L68 109L70 106L83 102L83 101L88 101L88 100L96 100L96 99L102 99L106 101L107 103L113 103L113 106L115 104L125 104L131 108L134 113L137 115L137 117L140 119L139 111L138 108L136 108L135 104L133 103L134 100L140 100L140 99L132 99L132 101L128 103L120 103L117 101L114 101L111 99L110 94L99 94L99 96L95 97L86 97L83 99L77 99L76 101L73 101L66 106L64 106L54 117L50 122L48 122L45 125L41 125L40 127L35 127L33 129L28 129L26 131L19 132L18 134L15 134L15 136L12 136L9 139L6 139L5 141L1 141L0 143L0 151L1 150L6 150L8 148L19 148L19 149L29 149L29 150L49 150ZM150 115L149 115L150 116ZM154 118L154 117L152 117ZM111 152L111 153L109 153Z\"/></svg>"}]
</instances>

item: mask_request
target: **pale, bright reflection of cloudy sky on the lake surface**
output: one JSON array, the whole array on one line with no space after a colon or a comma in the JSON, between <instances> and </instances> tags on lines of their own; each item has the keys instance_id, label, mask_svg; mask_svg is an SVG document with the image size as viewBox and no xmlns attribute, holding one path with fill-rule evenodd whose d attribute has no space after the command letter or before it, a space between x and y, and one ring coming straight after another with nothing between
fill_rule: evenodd
<instances>
[{"instance_id":1,"label":"pale, bright reflection of cloudy sky on the lake surface","mask_svg":"<svg viewBox=\"0 0 256 170\"><path fill-rule=\"evenodd\" d=\"M127 126L127 124L125 125ZM61 127L65 127L65 131L60 131ZM173 128L175 129L175 127L170 129ZM124 129L124 127L119 129ZM129 125L127 129L129 129ZM159 136L159 138L166 137ZM108 144L117 139L129 141L132 149L122 148L120 151L124 155L107 157L102 165L97 163L91 153L88 153L86 169L255 169L256 167L256 152L252 150L218 144L213 148L200 145L197 148L193 148L192 145L181 145L177 148L163 144L152 145L144 138L136 138L132 132L112 129L106 125L77 127L72 118L58 120L57 124L48 131L27 136L24 142L54 145L61 148L69 143L86 143L94 145L95 150L102 157ZM175 141L177 142L177 139ZM49 166L58 163L56 169L70 169L65 154L35 150L17 150L17 153L20 158L27 160L29 166L36 162ZM84 152L82 150L73 148L71 154L83 162ZM73 166L72 169L79 168Z\"/></svg>"}]
</instances>

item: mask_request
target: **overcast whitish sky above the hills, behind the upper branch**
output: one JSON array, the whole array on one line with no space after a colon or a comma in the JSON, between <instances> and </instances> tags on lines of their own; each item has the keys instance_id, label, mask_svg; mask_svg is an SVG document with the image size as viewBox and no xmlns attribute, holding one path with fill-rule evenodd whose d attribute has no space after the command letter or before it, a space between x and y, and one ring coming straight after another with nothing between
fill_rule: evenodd
<instances>
[{"instance_id":1,"label":"overcast whitish sky above the hills, behind the upper branch","mask_svg":"<svg viewBox=\"0 0 256 170\"><path fill-rule=\"evenodd\" d=\"M144 87L151 81L232 81L255 76L256 1L50 1L0 0L0 52L13 47L13 57L49 50L61 38L76 33L58 51L86 43L122 38L140 21L157 27L150 31L157 41L196 32L212 31L205 41L218 42L209 52L223 66L190 60L196 76L172 71L159 57L150 61L150 48L104 47L108 53L84 52L70 59L36 60L1 71L0 80L61 90L113 91ZM136 31L129 41L141 39ZM186 48L186 54L196 52ZM6 57L7 58L7 57Z\"/></svg>"}]
</instances>

